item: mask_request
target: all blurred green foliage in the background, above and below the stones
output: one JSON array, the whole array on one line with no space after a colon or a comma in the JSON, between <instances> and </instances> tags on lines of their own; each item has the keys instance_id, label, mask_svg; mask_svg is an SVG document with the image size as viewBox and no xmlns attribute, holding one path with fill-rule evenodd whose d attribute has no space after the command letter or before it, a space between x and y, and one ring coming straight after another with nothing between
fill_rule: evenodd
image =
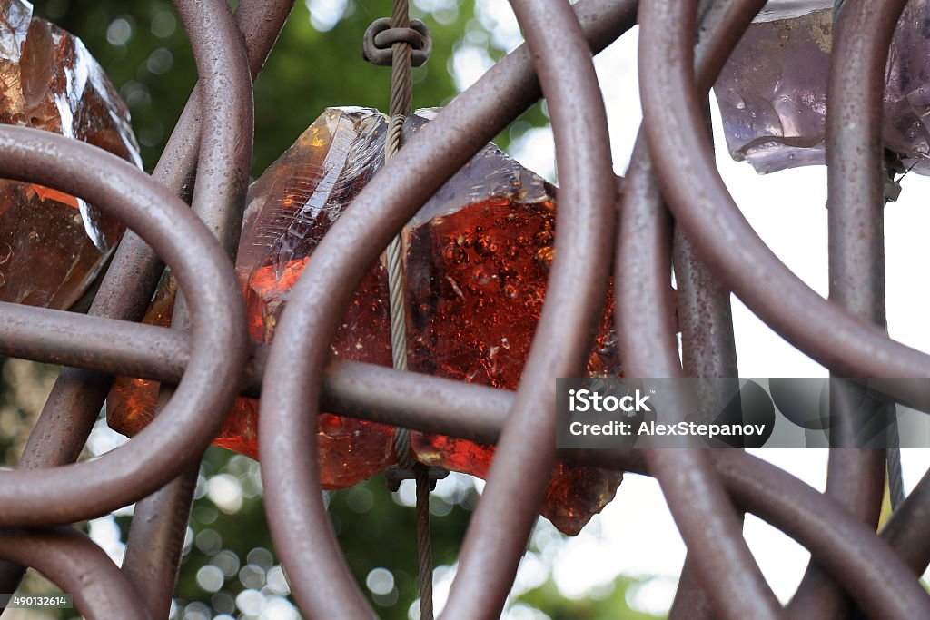
<instances>
[{"instance_id":1,"label":"all blurred green foliage in the background, above and below the stones","mask_svg":"<svg viewBox=\"0 0 930 620\"><path fill-rule=\"evenodd\" d=\"M297 3L255 85L253 176L258 177L326 107L386 108L390 70L362 59L361 40L372 20L390 14L390 4L389 0L348 0L334 27L320 32L312 25L308 8L312 0ZM470 33L472 46L484 41L492 59L500 58L505 50L495 48L489 33L482 32L484 27L475 19L471 0L413 5L414 17L427 23L433 37L432 59L415 72L414 105L440 106L457 94L450 63L455 50L464 45L466 33ZM164 0L47 0L35 3L35 13L80 36L100 61L129 106L144 165L151 171L196 81L191 50L173 7ZM546 123L542 106L535 106L498 137L498 144L506 148L526 129ZM5 462L12 464L19 457L56 369L0 363L0 448ZM99 427L95 432L107 432L102 424ZM88 455L92 453L88 451ZM208 492L218 480L238 488L241 503L218 506ZM329 499L334 529L358 581L364 585L367 575L377 568L386 568L393 575L395 587L387 595L374 595L364 587L375 609L390 620L407 618L416 599L413 509L404 505L401 495L390 494L380 477L330 494ZM433 497L437 566L451 565L456 560L476 499L477 492L469 481L459 481L454 493ZM130 523L127 511L109 520L118 526L119 537L125 541ZM535 545L531 547L533 552L544 550ZM248 589L288 600L286 587L281 587L280 578L275 580L280 577L277 562L265 521L257 464L244 456L211 448L193 507L175 617L210 618L221 613L228 614L219 616L223 618L256 617L236 608L236 597ZM219 591L212 592L202 586L198 574L216 565L222 565L226 574ZM653 616L631 611L625 598L628 587L638 583L621 577L615 584L601 588L601 596L565 600L550 577L514 602L529 613L521 617L646 620ZM32 575L24 587L48 591L51 586Z\"/></svg>"}]
</instances>

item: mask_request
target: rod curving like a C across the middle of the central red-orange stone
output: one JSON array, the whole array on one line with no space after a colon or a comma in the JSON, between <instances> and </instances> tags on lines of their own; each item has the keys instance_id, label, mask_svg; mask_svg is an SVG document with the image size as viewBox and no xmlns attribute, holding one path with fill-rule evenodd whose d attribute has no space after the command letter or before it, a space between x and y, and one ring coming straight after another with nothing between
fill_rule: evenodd
<instances>
[{"instance_id":1,"label":"rod curving like a C across the middle of the central red-orange stone","mask_svg":"<svg viewBox=\"0 0 930 620\"><path fill-rule=\"evenodd\" d=\"M631 26L632 8L632 2L577 7L595 51ZM300 607L312 617L371 615L339 554L319 494L314 407L329 335L392 235L538 95L530 53L521 46L420 129L368 183L314 252L316 268L305 271L291 292L264 376L259 451L272 535ZM326 583L326 591L313 587L317 583Z\"/></svg>"}]
</instances>

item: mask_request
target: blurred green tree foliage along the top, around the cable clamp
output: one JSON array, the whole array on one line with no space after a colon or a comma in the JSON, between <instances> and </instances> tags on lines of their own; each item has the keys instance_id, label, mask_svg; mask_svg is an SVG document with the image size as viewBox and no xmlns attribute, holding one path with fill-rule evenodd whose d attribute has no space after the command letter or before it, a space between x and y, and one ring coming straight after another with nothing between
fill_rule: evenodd
<instances>
[{"instance_id":1,"label":"blurred green tree foliage along the top, around the cable clamp","mask_svg":"<svg viewBox=\"0 0 930 620\"><path fill-rule=\"evenodd\" d=\"M492 34L474 17L471 2L414 2L413 15L432 33L432 57L414 70L414 107L445 104L457 93L450 73L457 50L503 56ZM166 0L103 0L91 7L72 0L35 3L36 15L77 34L117 86L129 111L146 169L152 170L196 82L183 28ZM362 36L391 2L297 2L255 84L255 154L258 177L327 107L387 109L391 70L362 59ZM467 33L467 37L465 36ZM484 56L482 57L484 58ZM545 125L537 106L518 133ZM500 136L506 147L511 132Z\"/></svg>"}]
</instances>

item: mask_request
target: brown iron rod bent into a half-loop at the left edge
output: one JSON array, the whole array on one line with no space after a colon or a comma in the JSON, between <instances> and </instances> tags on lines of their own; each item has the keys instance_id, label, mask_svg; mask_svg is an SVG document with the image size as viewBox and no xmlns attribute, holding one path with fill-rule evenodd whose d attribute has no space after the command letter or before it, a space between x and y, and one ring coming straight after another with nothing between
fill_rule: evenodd
<instances>
[{"instance_id":1,"label":"brown iron rod bent into a half-loop at the left edge","mask_svg":"<svg viewBox=\"0 0 930 620\"><path fill-rule=\"evenodd\" d=\"M191 363L169 411L140 432L140 441L85 463L0 472L3 525L80 521L152 493L206 448L246 363L246 312L216 240L177 196L138 168L80 141L4 126L0 176L81 196L145 231L182 286L198 291L191 303ZM0 305L0 316L8 306Z\"/></svg>"}]
</instances>

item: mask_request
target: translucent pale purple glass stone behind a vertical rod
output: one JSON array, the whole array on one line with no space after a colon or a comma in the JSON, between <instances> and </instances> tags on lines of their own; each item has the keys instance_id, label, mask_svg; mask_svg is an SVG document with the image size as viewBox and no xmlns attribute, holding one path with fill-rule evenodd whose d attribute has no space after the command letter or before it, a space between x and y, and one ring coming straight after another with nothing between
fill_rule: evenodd
<instances>
[{"instance_id":1,"label":"translucent pale purple glass stone behind a vertical rod","mask_svg":"<svg viewBox=\"0 0 930 620\"><path fill-rule=\"evenodd\" d=\"M714 85L730 154L760 174L824 163L831 4L770 2ZM930 174L930 0L898 22L884 104L885 147Z\"/></svg>"}]
</instances>

